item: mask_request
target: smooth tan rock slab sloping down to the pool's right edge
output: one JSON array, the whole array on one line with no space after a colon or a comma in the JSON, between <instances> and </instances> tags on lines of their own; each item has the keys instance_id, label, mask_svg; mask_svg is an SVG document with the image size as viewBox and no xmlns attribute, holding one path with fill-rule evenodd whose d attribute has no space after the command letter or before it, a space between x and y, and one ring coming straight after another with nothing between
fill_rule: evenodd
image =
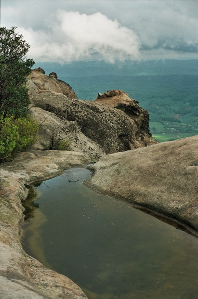
<instances>
[{"instance_id":1,"label":"smooth tan rock slab sloping down to the pool's right edge","mask_svg":"<svg viewBox=\"0 0 198 299\"><path fill-rule=\"evenodd\" d=\"M198 232L198 136L104 156L89 187Z\"/></svg>"}]
</instances>

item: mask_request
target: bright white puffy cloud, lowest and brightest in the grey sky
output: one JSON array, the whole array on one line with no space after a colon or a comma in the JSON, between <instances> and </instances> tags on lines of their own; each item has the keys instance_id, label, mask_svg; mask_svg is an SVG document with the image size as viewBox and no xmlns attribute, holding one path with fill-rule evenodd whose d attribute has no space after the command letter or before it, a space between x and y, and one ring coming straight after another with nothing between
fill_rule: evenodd
<instances>
[{"instance_id":1,"label":"bright white puffy cloud, lowest and brightest in the grey sky","mask_svg":"<svg viewBox=\"0 0 198 299\"><path fill-rule=\"evenodd\" d=\"M47 34L31 28L17 30L31 45L29 56L36 61L69 62L95 57L113 63L140 57L137 35L101 13L62 10Z\"/></svg>"}]
</instances>

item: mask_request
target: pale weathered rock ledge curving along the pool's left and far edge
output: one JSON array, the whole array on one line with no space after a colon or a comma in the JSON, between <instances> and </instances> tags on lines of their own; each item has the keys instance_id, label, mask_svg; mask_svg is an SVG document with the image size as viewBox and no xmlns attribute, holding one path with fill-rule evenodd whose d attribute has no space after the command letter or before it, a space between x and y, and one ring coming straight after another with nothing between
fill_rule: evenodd
<instances>
[{"instance_id":1,"label":"pale weathered rock ledge curving along the pool's left and far edge","mask_svg":"<svg viewBox=\"0 0 198 299\"><path fill-rule=\"evenodd\" d=\"M25 187L52 178L64 169L85 166L90 159L66 151L30 151L1 167L0 289L4 299L87 298L72 280L44 267L21 245Z\"/></svg>"}]
</instances>

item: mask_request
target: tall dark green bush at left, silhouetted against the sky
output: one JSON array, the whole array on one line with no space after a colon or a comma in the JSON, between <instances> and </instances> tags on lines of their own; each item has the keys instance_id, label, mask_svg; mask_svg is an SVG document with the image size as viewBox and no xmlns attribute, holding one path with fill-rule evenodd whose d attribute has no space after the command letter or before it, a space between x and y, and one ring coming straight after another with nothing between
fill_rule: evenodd
<instances>
[{"instance_id":1,"label":"tall dark green bush at left, silhouetted against the sky","mask_svg":"<svg viewBox=\"0 0 198 299\"><path fill-rule=\"evenodd\" d=\"M15 33L15 29L0 28L0 107L2 115L18 118L26 116L28 112L30 100L25 84L35 62L25 57L30 45L23 40L23 35Z\"/></svg>"}]
</instances>

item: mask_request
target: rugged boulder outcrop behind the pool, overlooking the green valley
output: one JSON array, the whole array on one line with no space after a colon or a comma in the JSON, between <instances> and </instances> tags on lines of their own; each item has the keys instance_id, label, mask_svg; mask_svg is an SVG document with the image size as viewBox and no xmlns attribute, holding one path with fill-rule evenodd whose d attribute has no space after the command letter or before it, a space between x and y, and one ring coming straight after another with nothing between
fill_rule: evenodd
<instances>
[{"instance_id":1,"label":"rugged boulder outcrop behind the pool, overlooking the green valley","mask_svg":"<svg viewBox=\"0 0 198 299\"><path fill-rule=\"evenodd\" d=\"M104 154L155 144L149 132L149 115L138 102L120 91L99 94L94 101L77 100L57 74L49 77L39 67L30 74L31 115L39 124L34 149L45 150L54 132L71 142L71 150L98 160Z\"/></svg>"}]
</instances>

